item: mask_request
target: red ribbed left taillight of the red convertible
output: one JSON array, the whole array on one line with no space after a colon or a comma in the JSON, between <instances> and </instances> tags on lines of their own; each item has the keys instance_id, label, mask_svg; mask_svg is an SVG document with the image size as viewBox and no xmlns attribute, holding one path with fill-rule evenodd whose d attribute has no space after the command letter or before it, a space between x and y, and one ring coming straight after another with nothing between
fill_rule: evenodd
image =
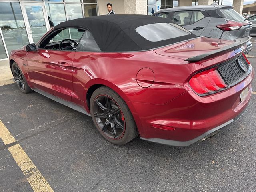
<instances>
[{"instance_id":1,"label":"red ribbed left taillight of the red convertible","mask_svg":"<svg viewBox=\"0 0 256 192\"><path fill-rule=\"evenodd\" d=\"M195 74L189 80L189 85L198 95L213 94L228 88L217 68Z\"/></svg>"}]
</instances>

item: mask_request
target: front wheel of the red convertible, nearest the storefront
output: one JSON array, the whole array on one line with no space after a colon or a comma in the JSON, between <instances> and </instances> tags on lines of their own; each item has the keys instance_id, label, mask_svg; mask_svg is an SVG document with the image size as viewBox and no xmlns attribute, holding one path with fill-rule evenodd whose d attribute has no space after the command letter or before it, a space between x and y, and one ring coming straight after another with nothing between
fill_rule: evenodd
<instances>
[{"instance_id":1,"label":"front wheel of the red convertible, nearest the storefront","mask_svg":"<svg viewBox=\"0 0 256 192\"><path fill-rule=\"evenodd\" d=\"M14 81L16 82L19 90L23 93L30 93L32 92L31 88L28 86L26 78L22 74L18 65L14 62L12 64L12 74L14 77Z\"/></svg>"}]
</instances>

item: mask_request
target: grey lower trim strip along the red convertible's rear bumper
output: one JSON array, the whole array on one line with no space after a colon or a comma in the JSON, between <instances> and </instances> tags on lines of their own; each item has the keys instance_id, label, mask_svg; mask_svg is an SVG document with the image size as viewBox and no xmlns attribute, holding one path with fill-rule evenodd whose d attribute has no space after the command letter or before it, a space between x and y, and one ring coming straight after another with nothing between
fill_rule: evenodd
<instances>
[{"instance_id":1,"label":"grey lower trim strip along the red convertible's rear bumper","mask_svg":"<svg viewBox=\"0 0 256 192\"><path fill-rule=\"evenodd\" d=\"M189 141L175 141L175 140L167 140L167 139L160 139L160 138L142 138L142 140L146 140L146 141L150 141L150 142L155 142L155 143L160 143L160 144L165 144L165 145L171 145L171 146L178 146L178 147L186 147L189 146L191 144L194 144L198 141L204 141L208 138L211 138L212 136L218 134L220 131L225 130L226 128L228 128L229 126L231 126L234 122L236 122L248 109L250 105L250 101L246 107L246 109L244 109L238 116L236 116L233 119L230 119L229 121L225 122L224 124L221 124L220 126L217 126L216 128L213 128L207 132L205 132L204 134L189 140Z\"/></svg>"}]
</instances>

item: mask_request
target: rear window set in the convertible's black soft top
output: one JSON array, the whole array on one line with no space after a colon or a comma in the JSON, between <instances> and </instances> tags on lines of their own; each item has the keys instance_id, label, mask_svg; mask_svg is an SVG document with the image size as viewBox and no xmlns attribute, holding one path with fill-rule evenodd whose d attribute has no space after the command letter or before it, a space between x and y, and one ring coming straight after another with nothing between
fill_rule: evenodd
<instances>
[{"instance_id":1,"label":"rear window set in the convertible's black soft top","mask_svg":"<svg viewBox=\"0 0 256 192\"><path fill-rule=\"evenodd\" d=\"M191 34L188 30L172 23L143 25L137 27L136 32L151 42L158 42Z\"/></svg>"}]
</instances>

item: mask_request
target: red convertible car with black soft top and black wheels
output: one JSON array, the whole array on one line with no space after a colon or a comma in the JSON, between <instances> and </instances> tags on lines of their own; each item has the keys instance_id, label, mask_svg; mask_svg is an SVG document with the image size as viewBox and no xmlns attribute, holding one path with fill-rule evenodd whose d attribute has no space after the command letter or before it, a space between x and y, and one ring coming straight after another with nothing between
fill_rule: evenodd
<instances>
[{"instance_id":1,"label":"red convertible car with black soft top and black wheels","mask_svg":"<svg viewBox=\"0 0 256 192\"><path fill-rule=\"evenodd\" d=\"M18 88L92 117L114 144L137 135L188 146L238 120L249 106L250 37L198 37L170 20L109 15L62 22L10 56Z\"/></svg>"}]
</instances>

